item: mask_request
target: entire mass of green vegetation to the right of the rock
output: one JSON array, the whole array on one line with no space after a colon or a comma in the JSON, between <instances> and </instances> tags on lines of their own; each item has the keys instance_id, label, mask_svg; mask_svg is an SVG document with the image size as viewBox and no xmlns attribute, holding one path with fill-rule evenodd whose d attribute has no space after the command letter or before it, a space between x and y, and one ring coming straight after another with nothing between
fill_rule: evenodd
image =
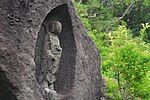
<instances>
[{"instance_id":1,"label":"entire mass of green vegetation to the right of the rock","mask_svg":"<svg viewBox=\"0 0 150 100\"><path fill-rule=\"evenodd\" d=\"M150 1L73 2L101 55L106 96L150 100Z\"/></svg>"}]
</instances>

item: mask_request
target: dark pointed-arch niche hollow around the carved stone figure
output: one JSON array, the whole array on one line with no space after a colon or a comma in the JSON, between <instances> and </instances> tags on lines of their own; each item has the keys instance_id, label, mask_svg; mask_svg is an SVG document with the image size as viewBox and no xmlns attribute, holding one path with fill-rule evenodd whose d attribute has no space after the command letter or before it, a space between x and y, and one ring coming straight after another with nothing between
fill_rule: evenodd
<instances>
[{"instance_id":1,"label":"dark pointed-arch niche hollow around the carved stone figure","mask_svg":"<svg viewBox=\"0 0 150 100\"><path fill-rule=\"evenodd\" d=\"M71 18L68 12L67 4L54 8L47 14L43 23L48 21L60 21L62 23L62 32L58 38L62 48L62 55L60 59L59 71L54 83L54 89L59 94L67 94L72 90L75 74L75 58L76 58L76 45L71 24ZM43 48L43 35L44 29L42 28L38 33L38 38L35 48L35 63L36 63L36 78L40 74L41 69L41 54Z\"/></svg>"}]
</instances>

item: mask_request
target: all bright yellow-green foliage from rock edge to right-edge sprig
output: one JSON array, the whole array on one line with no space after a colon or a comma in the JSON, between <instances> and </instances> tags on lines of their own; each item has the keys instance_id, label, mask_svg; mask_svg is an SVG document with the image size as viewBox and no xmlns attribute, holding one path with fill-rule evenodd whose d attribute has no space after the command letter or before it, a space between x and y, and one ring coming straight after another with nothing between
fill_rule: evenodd
<instances>
[{"instance_id":1,"label":"all bright yellow-green foliage from rock edge to right-edge sprig","mask_svg":"<svg viewBox=\"0 0 150 100\"><path fill-rule=\"evenodd\" d=\"M143 24L141 36L136 38L125 26L105 35L89 32L101 52L107 95L115 100L150 99L150 44L143 41L148 26Z\"/></svg>"}]
</instances>

